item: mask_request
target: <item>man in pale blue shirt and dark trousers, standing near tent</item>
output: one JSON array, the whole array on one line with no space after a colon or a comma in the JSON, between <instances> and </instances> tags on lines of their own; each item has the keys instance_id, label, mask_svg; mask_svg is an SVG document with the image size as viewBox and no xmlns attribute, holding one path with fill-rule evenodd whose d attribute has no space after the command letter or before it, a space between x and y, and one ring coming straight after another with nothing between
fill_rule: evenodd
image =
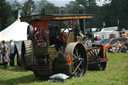
<instances>
[{"instance_id":1,"label":"man in pale blue shirt and dark trousers, standing near tent","mask_svg":"<svg viewBox=\"0 0 128 85\"><path fill-rule=\"evenodd\" d=\"M10 53L9 53L9 57L10 57L10 66L14 66L14 59L15 59L15 44L13 42L13 40L10 40Z\"/></svg>"}]
</instances>

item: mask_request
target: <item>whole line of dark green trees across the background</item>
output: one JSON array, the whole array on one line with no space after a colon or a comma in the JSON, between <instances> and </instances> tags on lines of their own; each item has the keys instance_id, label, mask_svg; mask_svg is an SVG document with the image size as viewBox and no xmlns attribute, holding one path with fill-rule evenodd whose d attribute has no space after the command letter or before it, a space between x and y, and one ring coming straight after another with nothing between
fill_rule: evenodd
<instances>
[{"instance_id":1,"label":"whole line of dark green trees across the background","mask_svg":"<svg viewBox=\"0 0 128 85\"><path fill-rule=\"evenodd\" d=\"M21 16L34 14L93 14L94 18L86 21L86 27L102 28L103 22L106 27L119 26L128 29L128 0L105 0L110 3L98 6L97 0L75 0L64 7L55 6L47 0L27 0L24 3L6 2L0 0L0 31L12 24L17 19L20 9ZM100 0L99 0L100 1Z\"/></svg>"}]
</instances>

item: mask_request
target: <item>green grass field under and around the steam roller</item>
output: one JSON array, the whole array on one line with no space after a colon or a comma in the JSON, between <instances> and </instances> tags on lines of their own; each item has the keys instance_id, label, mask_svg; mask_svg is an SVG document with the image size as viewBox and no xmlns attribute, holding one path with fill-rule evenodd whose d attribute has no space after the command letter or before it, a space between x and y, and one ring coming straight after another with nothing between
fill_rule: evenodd
<instances>
[{"instance_id":1,"label":"green grass field under and around the steam roller","mask_svg":"<svg viewBox=\"0 0 128 85\"><path fill-rule=\"evenodd\" d=\"M128 53L107 54L110 61L105 71L87 71L81 78L64 83L36 79L31 71L20 67L0 67L0 85L128 85Z\"/></svg>"}]
</instances>

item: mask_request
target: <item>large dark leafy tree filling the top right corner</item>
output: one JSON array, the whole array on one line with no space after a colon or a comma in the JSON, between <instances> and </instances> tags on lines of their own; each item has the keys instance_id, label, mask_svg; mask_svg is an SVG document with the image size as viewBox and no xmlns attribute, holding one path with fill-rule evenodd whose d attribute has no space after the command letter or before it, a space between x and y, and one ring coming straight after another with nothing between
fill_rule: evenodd
<instances>
[{"instance_id":1,"label":"large dark leafy tree filling the top right corner","mask_svg":"<svg viewBox=\"0 0 128 85\"><path fill-rule=\"evenodd\" d=\"M128 29L128 0L111 0L111 3L103 5L97 13L97 22L105 22L106 26L117 26L120 30Z\"/></svg>"}]
</instances>

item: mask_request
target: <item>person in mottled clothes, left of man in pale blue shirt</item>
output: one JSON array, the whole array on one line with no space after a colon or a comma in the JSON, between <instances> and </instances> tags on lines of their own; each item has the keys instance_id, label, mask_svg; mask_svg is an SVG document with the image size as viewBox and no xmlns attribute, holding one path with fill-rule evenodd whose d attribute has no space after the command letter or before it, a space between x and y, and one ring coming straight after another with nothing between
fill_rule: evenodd
<instances>
[{"instance_id":1,"label":"person in mottled clothes, left of man in pale blue shirt","mask_svg":"<svg viewBox=\"0 0 128 85\"><path fill-rule=\"evenodd\" d=\"M2 60L4 68L8 68L8 62L10 61L9 55L8 55L8 46L5 44L5 41L2 41Z\"/></svg>"}]
</instances>

